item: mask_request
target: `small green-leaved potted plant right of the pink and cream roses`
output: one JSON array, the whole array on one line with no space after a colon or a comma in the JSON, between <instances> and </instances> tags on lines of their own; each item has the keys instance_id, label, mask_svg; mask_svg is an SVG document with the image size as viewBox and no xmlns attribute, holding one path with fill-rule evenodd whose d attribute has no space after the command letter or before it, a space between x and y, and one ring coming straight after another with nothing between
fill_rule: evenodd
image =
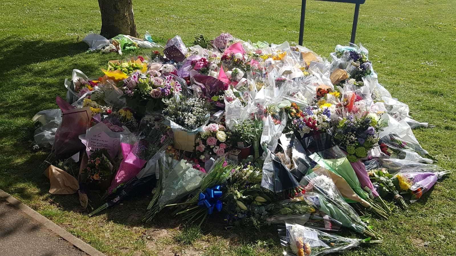
<instances>
[{"instance_id":1,"label":"small green-leaved potted plant right of the pink and cream roses","mask_svg":"<svg viewBox=\"0 0 456 256\"><path fill-rule=\"evenodd\" d=\"M234 147L241 151L241 158L246 159L250 155L252 142L255 139L254 125L247 122L233 125L230 138Z\"/></svg>"}]
</instances>

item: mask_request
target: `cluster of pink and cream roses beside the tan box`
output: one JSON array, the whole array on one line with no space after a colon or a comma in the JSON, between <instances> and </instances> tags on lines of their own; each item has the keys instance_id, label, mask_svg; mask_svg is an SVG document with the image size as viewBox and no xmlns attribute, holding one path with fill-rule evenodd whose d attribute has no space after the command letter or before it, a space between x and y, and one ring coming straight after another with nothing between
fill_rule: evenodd
<instances>
[{"instance_id":1,"label":"cluster of pink and cream roses beside the tan box","mask_svg":"<svg viewBox=\"0 0 456 256\"><path fill-rule=\"evenodd\" d=\"M210 123L204 126L203 132L198 134L195 148L197 157L205 162L211 156L220 157L227 151L228 145L226 143L228 139L226 128L223 125L217 123Z\"/></svg>"}]
</instances>

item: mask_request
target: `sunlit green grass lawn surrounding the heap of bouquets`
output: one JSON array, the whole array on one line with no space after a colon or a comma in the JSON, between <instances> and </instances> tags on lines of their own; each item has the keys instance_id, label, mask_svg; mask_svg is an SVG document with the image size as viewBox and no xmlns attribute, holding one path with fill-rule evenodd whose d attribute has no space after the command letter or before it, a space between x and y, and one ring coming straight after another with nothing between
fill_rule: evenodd
<instances>
[{"instance_id":1,"label":"sunlit green grass lawn surrounding the heap of bouquets","mask_svg":"<svg viewBox=\"0 0 456 256\"><path fill-rule=\"evenodd\" d=\"M378 80L409 104L411 115L435 124L417 129L423 148L439 165L456 164L456 3L454 0L367 0L361 6L357 43L370 51ZM354 5L307 2L304 45L328 56L350 39ZM241 39L297 41L301 1L142 0L135 1L138 32L155 41L181 35L208 38L230 32ZM0 188L107 255L280 255L274 226L225 230L209 221L202 230L183 227L166 212L140 223L150 197L124 202L88 218L74 211L76 195L50 195L39 165L45 151L34 151L33 115L57 108L63 80L77 68L89 76L115 54L87 53L81 42L101 27L94 0L4 0L0 2ZM343 255L456 255L455 175L441 181L408 211L387 221L372 220L383 244ZM90 202L98 206L93 198ZM215 224L214 224L215 223Z\"/></svg>"}]
</instances>

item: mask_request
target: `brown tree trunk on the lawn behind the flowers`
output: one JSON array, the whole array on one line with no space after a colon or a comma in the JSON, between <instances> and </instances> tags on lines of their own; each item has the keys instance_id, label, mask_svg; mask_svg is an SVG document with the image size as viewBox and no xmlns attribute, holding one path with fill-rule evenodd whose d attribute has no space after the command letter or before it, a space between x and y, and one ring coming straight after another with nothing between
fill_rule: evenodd
<instances>
[{"instance_id":1,"label":"brown tree trunk on the lawn behind the flowers","mask_svg":"<svg viewBox=\"0 0 456 256\"><path fill-rule=\"evenodd\" d=\"M98 0L101 12L100 35L112 38L119 34L138 36L132 0Z\"/></svg>"}]
</instances>

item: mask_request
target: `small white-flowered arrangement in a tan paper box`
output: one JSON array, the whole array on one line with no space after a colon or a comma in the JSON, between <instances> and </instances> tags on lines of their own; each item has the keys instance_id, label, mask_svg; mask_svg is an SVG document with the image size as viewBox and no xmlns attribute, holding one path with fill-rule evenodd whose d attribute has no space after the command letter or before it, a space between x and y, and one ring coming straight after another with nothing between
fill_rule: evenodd
<instances>
[{"instance_id":1,"label":"small white-flowered arrangement in a tan paper box","mask_svg":"<svg viewBox=\"0 0 456 256\"><path fill-rule=\"evenodd\" d=\"M163 99L166 108L163 116L174 133L174 147L185 151L195 150L196 135L209 121L210 105L202 98L171 97Z\"/></svg>"}]
</instances>

